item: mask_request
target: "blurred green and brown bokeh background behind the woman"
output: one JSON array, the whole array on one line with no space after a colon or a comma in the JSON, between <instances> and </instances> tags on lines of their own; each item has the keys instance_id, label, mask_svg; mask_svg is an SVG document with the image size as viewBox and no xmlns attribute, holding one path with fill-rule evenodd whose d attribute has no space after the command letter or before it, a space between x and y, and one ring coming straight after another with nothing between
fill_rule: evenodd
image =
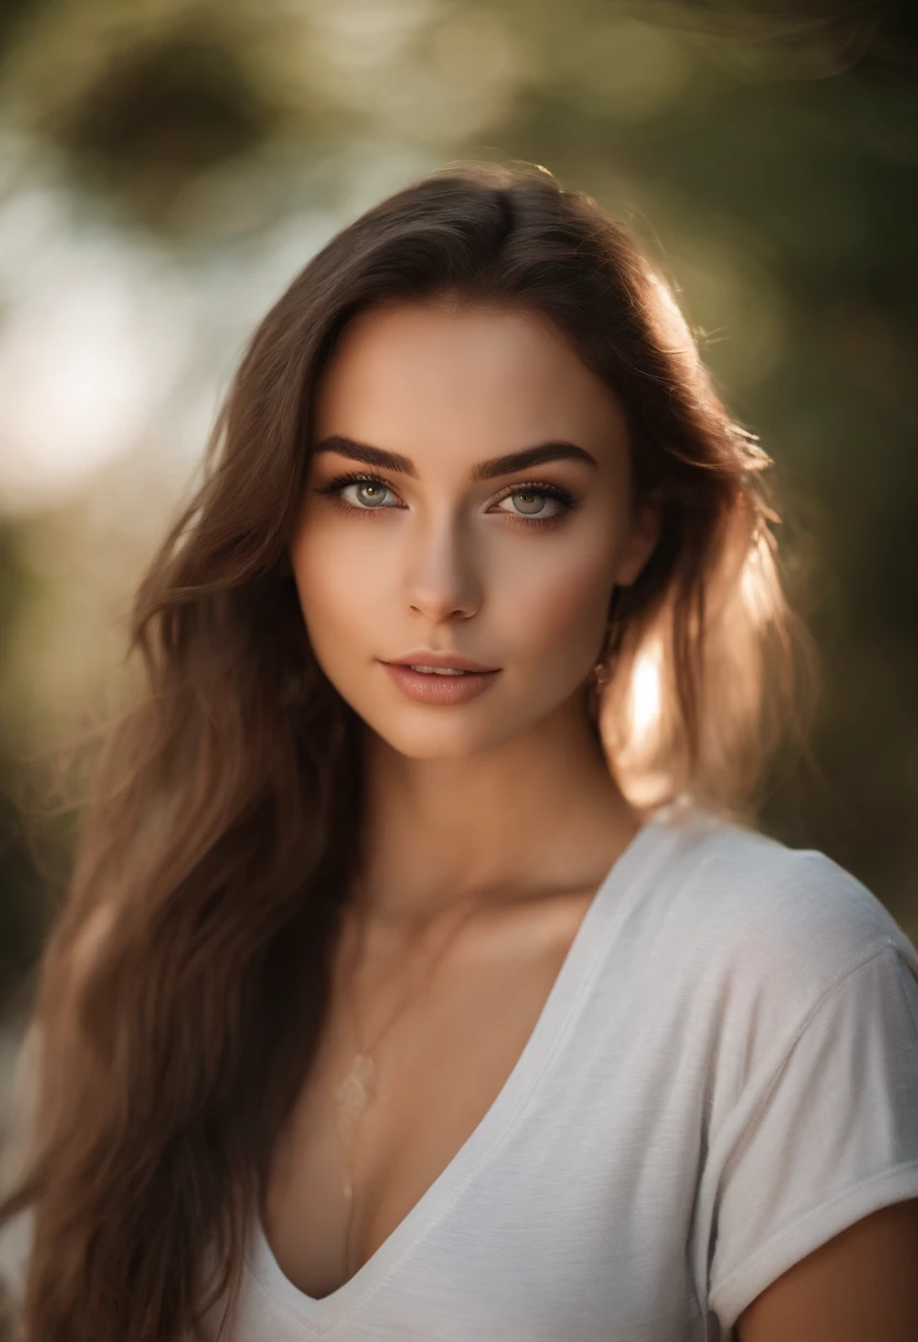
<instances>
[{"instance_id":1,"label":"blurred green and brown bokeh background behind the woman","mask_svg":"<svg viewBox=\"0 0 918 1342\"><path fill-rule=\"evenodd\" d=\"M913 3L3 0L0 1084L71 837L30 847L27 761L109 702L255 323L455 158L544 165L674 286L824 659L761 825L918 937L917 111Z\"/></svg>"}]
</instances>

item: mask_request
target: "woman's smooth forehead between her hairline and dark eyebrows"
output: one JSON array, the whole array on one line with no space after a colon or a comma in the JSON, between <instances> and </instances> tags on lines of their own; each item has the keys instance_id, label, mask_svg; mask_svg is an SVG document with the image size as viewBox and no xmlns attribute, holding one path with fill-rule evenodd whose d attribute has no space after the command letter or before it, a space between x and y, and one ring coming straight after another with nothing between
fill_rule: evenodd
<instances>
[{"instance_id":1,"label":"woman's smooth forehead between her hairline and dark eyebrows","mask_svg":"<svg viewBox=\"0 0 918 1342\"><path fill-rule=\"evenodd\" d=\"M519 309L403 303L360 313L317 386L314 436L423 452L482 442L621 439L620 403L566 337ZM429 448L428 448L429 450Z\"/></svg>"}]
</instances>

